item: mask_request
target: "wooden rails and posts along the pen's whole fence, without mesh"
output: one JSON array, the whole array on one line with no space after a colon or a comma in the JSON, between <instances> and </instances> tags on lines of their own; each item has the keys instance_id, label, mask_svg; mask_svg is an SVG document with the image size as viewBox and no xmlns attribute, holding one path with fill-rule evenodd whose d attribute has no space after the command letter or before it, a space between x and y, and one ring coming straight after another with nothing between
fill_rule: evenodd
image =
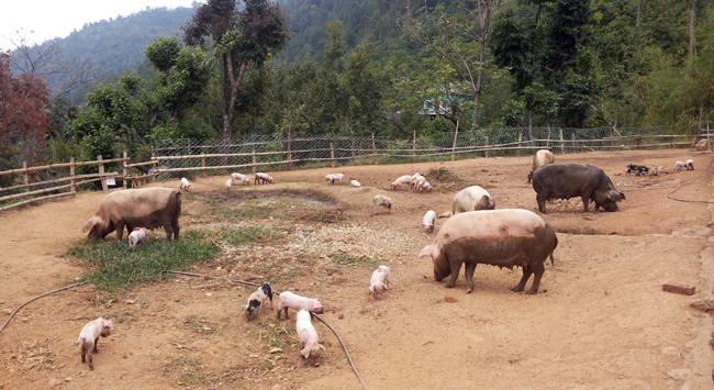
<instances>
[{"instance_id":1,"label":"wooden rails and posts along the pen's whole fence, without mesh","mask_svg":"<svg viewBox=\"0 0 714 390\"><path fill-rule=\"evenodd\" d=\"M616 137L603 137L599 140L576 140L574 134L572 140L567 140L564 137L562 130L560 130L559 137L548 138L548 140L527 140L523 141L523 133L518 134L518 138L515 142L500 143L500 144L489 144L489 137L484 136L482 141L486 141L482 145L476 146L458 146L458 133L454 137L454 143L449 146L442 147L435 145L428 145L423 143L417 143L416 134L412 142L399 142L399 141L388 141L388 140L378 140L373 135L371 138L357 138L357 137L316 137L316 138L290 138L287 140L276 140L268 142L255 142L255 143L243 143L243 144L231 144L231 145L198 145L198 146L177 146L177 147L161 147L154 148L154 156L148 161L129 164L129 157L126 156L126 151L122 158L113 159L102 159L102 156L97 156L97 160L92 161L75 161L74 158L69 163L64 164L51 164L38 167L27 167L23 165L23 168L20 169L10 169L0 171L0 176L7 175L22 175L22 183L16 183L10 187L0 188L0 193L5 191L18 191L23 190L19 193L11 193L8 196L0 197L0 202L8 202L20 198L29 198L26 200L7 204L0 207L0 211L4 211L11 208L15 208L23 204L29 204L31 202L54 199L66 196L74 196L76 193L77 187L86 185L89 182L100 181L102 183L103 191L108 191L107 179L121 179L123 182L123 188L127 187L140 187L145 183L146 180L156 180L157 177L161 174L171 174L180 171L202 171L205 174L208 170L223 170L223 169L239 169L239 168L252 168L255 174L257 168L269 167L278 165L278 169L292 168L294 164L304 164L304 163L325 163L331 166L335 166L338 161L347 161L346 164L364 164L367 159L372 160L372 164L378 164L379 159L384 158L409 158L412 161L417 159L454 159L457 155L467 155L467 154L482 154L488 157L489 152L507 152L513 155L522 155L522 153L532 153L535 149L542 149L544 147L549 147L553 149L559 148L560 153L566 153L566 151L617 151L623 148L647 148L647 147L685 147L692 144L693 138L696 138L696 135L631 135L631 136L616 136ZM655 142L650 144L643 144L643 141L646 140L660 140L660 142ZM669 141L667 141L669 140ZM293 149L292 145L295 142L310 142L310 141L323 141L328 142L328 146L320 148L302 148ZM352 147L336 147L335 141L350 141ZM356 145L356 141L359 141ZM666 141L666 142L661 142ZM679 141L679 142L677 142ZM370 147L360 147L361 143L371 142ZM462 142L462 141L461 141ZM477 141L471 141L476 143ZM636 144L632 144L635 142ZM278 152L257 152L256 146L261 145L271 145L276 143L287 143L287 151ZM629 145L625 146L623 143L628 143ZM380 146L387 147L377 147L377 144ZM342 144L344 145L344 143ZM222 147L246 147L253 146L253 151L249 153L226 153L226 154L194 154L194 155L183 155L183 156L156 156L157 152L171 152L171 151L182 151L182 149L196 149L196 148L222 148ZM357 146L357 147L355 147ZM305 157L305 155L311 154L312 156L322 155L324 157ZM294 158L295 156L303 156L302 158ZM249 163L246 164L225 164L230 157L243 157L246 158ZM211 163L210 159L219 159L216 165L207 165L207 159ZM261 158L274 159L270 161L259 161ZM177 160L197 160L197 163L189 163L191 166L179 166L179 167L165 167L161 166L161 161L170 163ZM200 161L199 161L200 160ZM359 161L359 163L358 163ZM116 164L121 163L121 171L104 171L104 166L107 164ZM221 164L223 163L223 164ZM342 163L341 163L342 164ZM99 174L86 174L86 175L76 175L75 168L81 166L98 166ZM149 167L148 174L144 167ZM58 168L69 168L69 176L53 178L44 181L32 182L30 180L30 174L47 169L58 169ZM87 179L78 181L81 179ZM19 181L19 180L18 180ZM51 186L55 183L69 181L68 185ZM49 187L46 187L49 186ZM31 188L37 188L31 190ZM42 188L45 187L45 188ZM47 192L64 191L59 193L45 194ZM41 197L35 197L41 196ZM34 198L33 198L34 197Z\"/></svg>"}]
</instances>

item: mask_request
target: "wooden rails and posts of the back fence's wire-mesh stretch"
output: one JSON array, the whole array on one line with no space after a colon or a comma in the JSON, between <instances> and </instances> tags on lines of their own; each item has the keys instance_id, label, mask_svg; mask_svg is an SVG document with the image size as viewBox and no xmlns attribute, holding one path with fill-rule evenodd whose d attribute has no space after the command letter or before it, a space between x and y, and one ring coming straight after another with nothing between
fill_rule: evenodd
<instances>
[{"instance_id":1,"label":"wooden rails and posts of the back fence's wire-mesh stretch","mask_svg":"<svg viewBox=\"0 0 714 390\"><path fill-rule=\"evenodd\" d=\"M314 163L313 165L331 166L355 165L355 164L379 164L405 163L422 160L454 160L457 157L489 157L498 155L521 156L532 155L542 148L550 148L555 153L573 153L584 151L622 151L639 148L673 148L688 147L696 135L629 135L613 136L596 140L572 140L564 138L562 130L560 137L555 140L529 140L523 141L523 133L518 134L516 142L489 144L489 137L484 137L482 145L457 146L455 142L447 146L434 146L425 143L397 142L361 137L334 137L333 138L288 138L269 142L231 144L231 145L193 145L190 147L161 147L153 151L152 160L156 161L159 174L170 174L176 177L179 172L201 172L205 176L209 170L227 169L250 169L255 175L259 170L283 170L292 169L295 165ZM336 147L335 142L341 141L343 145L362 145L362 147ZM347 142L346 142L347 141ZM348 141L353 141L352 143ZM356 141L356 142L355 142ZM309 145L306 148L293 148L292 144L302 142ZM312 142L305 144L305 142ZM625 145L626 144L626 145ZM279 151L257 152L266 146L278 145ZM369 145L368 147L364 147ZM176 152L187 151L220 151L247 148L250 152L243 153L200 153L188 155L170 155ZM166 155L160 155L165 153ZM233 161L233 164L230 163ZM186 175L186 174L181 174Z\"/></svg>"}]
</instances>

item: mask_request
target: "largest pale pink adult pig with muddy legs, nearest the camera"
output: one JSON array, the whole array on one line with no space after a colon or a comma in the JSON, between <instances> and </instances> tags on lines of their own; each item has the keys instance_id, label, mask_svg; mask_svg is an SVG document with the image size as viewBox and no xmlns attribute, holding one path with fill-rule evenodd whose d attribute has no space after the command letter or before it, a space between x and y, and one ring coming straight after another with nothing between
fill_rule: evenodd
<instances>
[{"instance_id":1,"label":"largest pale pink adult pig with muddy legs, nearest the camera","mask_svg":"<svg viewBox=\"0 0 714 390\"><path fill-rule=\"evenodd\" d=\"M535 274L527 293L538 292L545 261L558 246L556 232L540 216L528 210L502 209L468 211L444 223L434 244L422 249L420 257L432 256L434 279L451 276L447 288L456 285L461 265L466 265L467 291L473 291L473 271L478 264L523 267L523 277L512 291L523 291Z\"/></svg>"}]
</instances>

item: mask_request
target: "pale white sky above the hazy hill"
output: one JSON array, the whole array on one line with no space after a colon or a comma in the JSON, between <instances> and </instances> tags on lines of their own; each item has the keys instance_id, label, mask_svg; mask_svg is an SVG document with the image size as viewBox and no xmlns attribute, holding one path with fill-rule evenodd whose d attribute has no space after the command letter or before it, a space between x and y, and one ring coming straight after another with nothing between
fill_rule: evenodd
<instances>
[{"instance_id":1,"label":"pale white sky above the hazy hill","mask_svg":"<svg viewBox=\"0 0 714 390\"><path fill-rule=\"evenodd\" d=\"M2 0L0 1L0 49L14 46L8 40L15 31L26 34L31 43L43 43L55 37L65 37L85 23L102 19L126 16L150 8L191 7L196 0ZM202 1L199 1L202 2ZM22 30L21 30L22 29Z\"/></svg>"}]
</instances>

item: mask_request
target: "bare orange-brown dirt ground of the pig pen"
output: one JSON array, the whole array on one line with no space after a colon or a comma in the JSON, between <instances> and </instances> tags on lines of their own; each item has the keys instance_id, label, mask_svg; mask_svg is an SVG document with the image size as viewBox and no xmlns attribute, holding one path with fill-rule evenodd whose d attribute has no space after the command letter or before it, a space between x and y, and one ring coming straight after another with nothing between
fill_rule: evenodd
<instances>
[{"instance_id":1,"label":"bare orange-brown dirt ground of the pig pen","mask_svg":"<svg viewBox=\"0 0 714 390\"><path fill-rule=\"evenodd\" d=\"M623 175L627 164L672 168L688 158L695 170ZM266 198L258 191L298 193L336 207L276 208L288 218L233 221L268 226L282 238L221 244L219 258L192 271L258 281L270 275L261 275L256 264L269 261L282 276L274 288L321 298L322 317L339 332L369 389L712 389L712 316L689 305L694 298L713 298L712 209L667 196L691 181L671 197L712 201L714 169L707 167L713 158L687 151L556 155L556 163L602 168L626 200L615 213L592 208L583 213L576 199L547 205L543 216L558 232L559 245L537 296L510 291L520 269L488 266L477 267L472 293L466 293L462 276L454 289L445 289L445 281L433 279L431 259L417 257L435 237L420 229L422 216L429 209L450 210L466 185L484 187L497 209L537 211L526 183L531 157L275 172L275 186L236 186L231 192L223 187L225 177L197 178L180 223L183 231L210 230L203 199L242 208L244 200ZM462 181L432 182L431 193L389 189L401 175L438 168ZM330 186L324 176L336 171L364 187ZM156 186L178 188L179 182ZM372 215L376 193L391 197L391 213ZM0 213L0 322L21 303L87 271L65 253L85 239L81 224L103 197L80 193ZM436 230L444 221L437 220ZM335 264L335 256L380 259L391 268L392 286L373 300L368 285L376 267ZM293 265L305 264L306 270L291 274ZM695 286L696 294L665 292L661 285L668 281ZM276 320L277 300L258 320L246 321L241 307L250 291L180 277L129 290L108 304L91 286L42 298L0 333L0 389L361 388L323 324L313 320L326 353L304 360L294 312L288 321ZM100 315L115 326L112 336L100 339L90 371L75 343L83 324ZM287 343L275 350L279 339Z\"/></svg>"}]
</instances>

